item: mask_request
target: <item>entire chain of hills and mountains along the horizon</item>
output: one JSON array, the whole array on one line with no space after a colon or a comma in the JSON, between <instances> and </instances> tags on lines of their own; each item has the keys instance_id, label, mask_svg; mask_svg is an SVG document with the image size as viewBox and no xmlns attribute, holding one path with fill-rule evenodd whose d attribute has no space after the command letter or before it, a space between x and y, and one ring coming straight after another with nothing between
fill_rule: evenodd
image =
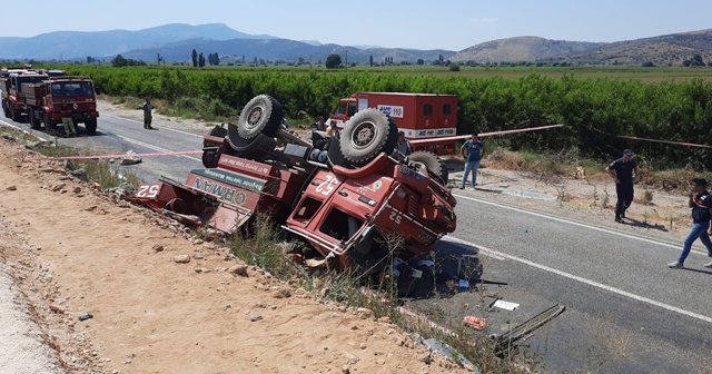
<instances>
[{"instance_id":1,"label":"entire chain of hills and mountains along the horizon","mask_svg":"<svg viewBox=\"0 0 712 374\"><path fill-rule=\"evenodd\" d=\"M694 55L712 61L712 29L617 42L585 42L551 40L540 37L516 37L483 42L459 52L444 49L416 50L382 48L367 45L322 45L317 40L296 41L265 35L248 35L224 23L190 26L164 24L129 31L96 32L57 31L32 38L0 37L0 59L17 60L85 60L88 56L109 60L121 53L126 58L156 60L160 53L167 62L190 61L196 49L204 55L217 52L221 61L325 61L338 53L346 62L394 63L429 62L441 56L454 62L521 62L567 61L572 63L682 65Z\"/></svg>"}]
</instances>

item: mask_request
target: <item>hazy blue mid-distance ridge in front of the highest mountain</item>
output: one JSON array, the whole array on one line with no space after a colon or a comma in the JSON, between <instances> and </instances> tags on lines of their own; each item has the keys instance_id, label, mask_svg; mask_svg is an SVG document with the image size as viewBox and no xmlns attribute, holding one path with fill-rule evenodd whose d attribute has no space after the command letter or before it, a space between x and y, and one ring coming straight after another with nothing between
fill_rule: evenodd
<instances>
[{"instance_id":1,"label":"hazy blue mid-distance ridge in front of the highest mountain","mask_svg":"<svg viewBox=\"0 0 712 374\"><path fill-rule=\"evenodd\" d=\"M231 39L210 40L190 39L161 46L151 46L144 49L135 49L121 53L125 58L137 60L154 60L156 53L160 53L166 61L190 61L190 52L195 49L204 55L217 52L221 61L238 61L245 57L246 62L253 62L255 58L271 61L298 61L306 62L326 61L330 53L338 53L344 62L368 63L373 56L374 62L379 63L386 57L392 57L394 62L415 62L418 59L435 60L439 55L448 58L455 51L448 50L414 50L399 48L373 48L362 50L356 47L338 45L314 45L289 39ZM106 56L110 59L113 56Z\"/></svg>"}]
</instances>

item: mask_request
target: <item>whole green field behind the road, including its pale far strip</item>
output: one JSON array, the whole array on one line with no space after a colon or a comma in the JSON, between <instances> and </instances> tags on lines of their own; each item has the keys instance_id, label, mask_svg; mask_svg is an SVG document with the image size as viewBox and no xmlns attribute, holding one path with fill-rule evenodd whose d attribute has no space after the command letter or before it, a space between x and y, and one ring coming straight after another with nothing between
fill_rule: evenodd
<instances>
[{"instance_id":1,"label":"whole green field behind the road, including its pale far strip","mask_svg":"<svg viewBox=\"0 0 712 374\"><path fill-rule=\"evenodd\" d=\"M52 67L62 68L62 67ZM704 148L626 140L619 135L709 145L712 69L642 67L123 67L76 65L113 97L151 97L165 110L211 120L235 118L259 94L288 118L312 121L356 91L451 94L459 98L458 134L566 124L562 129L496 140L517 150L610 158L639 149L650 167L709 169ZM491 140L492 141L492 140Z\"/></svg>"}]
</instances>

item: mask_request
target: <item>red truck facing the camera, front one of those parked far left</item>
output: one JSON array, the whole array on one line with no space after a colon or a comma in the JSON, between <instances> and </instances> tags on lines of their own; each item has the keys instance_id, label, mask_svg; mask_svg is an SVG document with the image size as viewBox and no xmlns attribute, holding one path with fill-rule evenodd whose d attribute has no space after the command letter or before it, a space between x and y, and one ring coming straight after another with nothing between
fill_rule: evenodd
<instances>
[{"instance_id":1,"label":"red truck facing the camera, front one of those parked far left","mask_svg":"<svg viewBox=\"0 0 712 374\"><path fill-rule=\"evenodd\" d=\"M73 124L85 124L87 134L97 130L97 97L91 79L85 77L52 77L36 82L23 83L26 112L33 129L43 122L46 130L61 124L62 118L71 118Z\"/></svg>"}]
</instances>

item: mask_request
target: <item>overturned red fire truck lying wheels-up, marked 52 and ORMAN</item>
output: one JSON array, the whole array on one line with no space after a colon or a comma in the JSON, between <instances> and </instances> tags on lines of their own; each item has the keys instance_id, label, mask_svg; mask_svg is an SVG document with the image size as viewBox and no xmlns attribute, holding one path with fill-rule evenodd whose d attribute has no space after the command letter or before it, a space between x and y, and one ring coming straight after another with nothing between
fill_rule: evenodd
<instances>
[{"instance_id":1,"label":"overturned red fire truck lying wheels-up, marked 52 and ORMAN","mask_svg":"<svg viewBox=\"0 0 712 374\"><path fill-rule=\"evenodd\" d=\"M455 230L447 169L434 154L398 152L398 129L383 111L358 111L339 138L312 131L303 139L283 118L276 99L253 98L237 125L204 137L204 168L185 183L161 178L126 198L226 234L267 215L329 266L369 273L392 255L428 253Z\"/></svg>"}]
</instances>

